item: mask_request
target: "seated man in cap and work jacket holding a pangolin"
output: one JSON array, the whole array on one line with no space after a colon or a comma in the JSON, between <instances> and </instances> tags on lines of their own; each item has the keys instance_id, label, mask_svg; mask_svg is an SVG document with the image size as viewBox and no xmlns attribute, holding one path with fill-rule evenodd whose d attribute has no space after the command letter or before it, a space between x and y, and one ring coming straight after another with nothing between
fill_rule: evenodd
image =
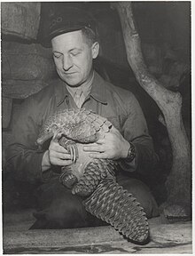
<instances>
[{"instance_id":1,"label":"seated man in cap and work jacket holding a pangolin","mask_svg":"<svg viewBox=\"0 0 195 256\"><path fill-rule=\"evenodd\" d=\"M93 70L99 44L94 21L87 13L66 8L51 16L45 42L51 42L58 72L57 84L49 85L23 105L7 150L7 168L19 180L39 184L37 212L32 228L78 228L101 225L82 206L82 199L63 187L58 177L61 166L73 164L67 150L51 140L48 148L35 146L42 124L48 116L64 108L91 109L105 116L114 127L104 140L85 146L92 158L118 160L117 181L144 207L148 218L158 215L149 190L134 173L146 175L157 163L142 110L131 92L105 82ZM131 175L132 174L132 175Z\"/></svg>"}]
</instances>

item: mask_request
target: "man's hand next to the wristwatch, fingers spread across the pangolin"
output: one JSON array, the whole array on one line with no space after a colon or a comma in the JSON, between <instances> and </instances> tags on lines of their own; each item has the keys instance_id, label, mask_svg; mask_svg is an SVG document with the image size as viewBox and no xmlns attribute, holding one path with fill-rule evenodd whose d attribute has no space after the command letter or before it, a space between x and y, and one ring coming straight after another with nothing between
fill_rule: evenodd
<instances>
[{"instance_id":1,"label":"man's hand next to the wristwatch, fingers spread across the pangolin","mask_svg":"<svg viewBox=\"0 0 195 256\"><path fill-rule=\"evenodd\" d=\"M85 146L83 150L90 152L92 158L117 160L128 156L129 147L129 142L115 127L112 127L111 131L105 134L104 139L96 141L93 145Z\"/></svg>"}]
</instances>

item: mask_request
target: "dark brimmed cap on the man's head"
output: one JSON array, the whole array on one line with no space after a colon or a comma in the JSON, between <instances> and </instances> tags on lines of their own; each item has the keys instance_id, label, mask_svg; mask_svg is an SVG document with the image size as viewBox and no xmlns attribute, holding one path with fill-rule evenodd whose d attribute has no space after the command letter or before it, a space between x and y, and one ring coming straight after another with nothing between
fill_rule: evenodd
<instances>
[{"instance_id":1,"label":"dark brimmed cap on the man's head","mask_svg":"<svg viewBox=\"0 0 195 256\"><path fill-rule=\"evenodd\" d=\"M49 20L45 20L46 26L43 31L43 45L51 46L51 39L61 34L80 30L82 28L90 28L96 33L96 21L89 12L85 12L80 8L69 7L52 12Z\"/></svg>"}]
</instances>

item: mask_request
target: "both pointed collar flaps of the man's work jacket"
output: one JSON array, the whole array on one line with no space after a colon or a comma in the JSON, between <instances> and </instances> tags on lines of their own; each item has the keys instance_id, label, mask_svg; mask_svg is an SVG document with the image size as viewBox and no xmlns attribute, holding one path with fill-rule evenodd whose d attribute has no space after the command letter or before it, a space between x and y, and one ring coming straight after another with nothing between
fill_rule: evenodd
<instances>
[{"instance_id":1,"label":"both pointed collar flaps of the man's work jacket","mask_svg":"<svg viewBox=\"0 0 195 256\"><path fill-rule=\"evenodd\" d=\"M90 96L102 104L107 104L105 92L105 80L99 76L96 71L94 71L94 79L90 91ZM57 84L55 84L55 95L57 106L59 106L69 95L65 83L61 79L58 79Z\"/></svg>"}]
</instances>

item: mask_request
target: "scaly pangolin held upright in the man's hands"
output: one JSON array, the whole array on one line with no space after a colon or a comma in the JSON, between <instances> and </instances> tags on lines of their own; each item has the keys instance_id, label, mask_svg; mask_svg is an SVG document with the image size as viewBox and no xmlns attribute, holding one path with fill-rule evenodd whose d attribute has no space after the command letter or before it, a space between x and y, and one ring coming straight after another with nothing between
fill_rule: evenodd
<instances>
[{"instance_id":1,"label":"scaly pangolin held upright in the man's hands","mask_svg":"<svg viewBox=\"0 0 195 256\"><path fill-rule=\"evenodd\" d=\"M111 224L131 242L145 244L149 239L147 218L136 198L116 182L116 161L93 159L82 150L86 143L104 138L112 126L106 118L84 108L61 110L46 120L36 143L43 147L46 140L58 140L73 160L62 167L60 182L82 196L86 211Z\"/></svg>"}]
</instances>

